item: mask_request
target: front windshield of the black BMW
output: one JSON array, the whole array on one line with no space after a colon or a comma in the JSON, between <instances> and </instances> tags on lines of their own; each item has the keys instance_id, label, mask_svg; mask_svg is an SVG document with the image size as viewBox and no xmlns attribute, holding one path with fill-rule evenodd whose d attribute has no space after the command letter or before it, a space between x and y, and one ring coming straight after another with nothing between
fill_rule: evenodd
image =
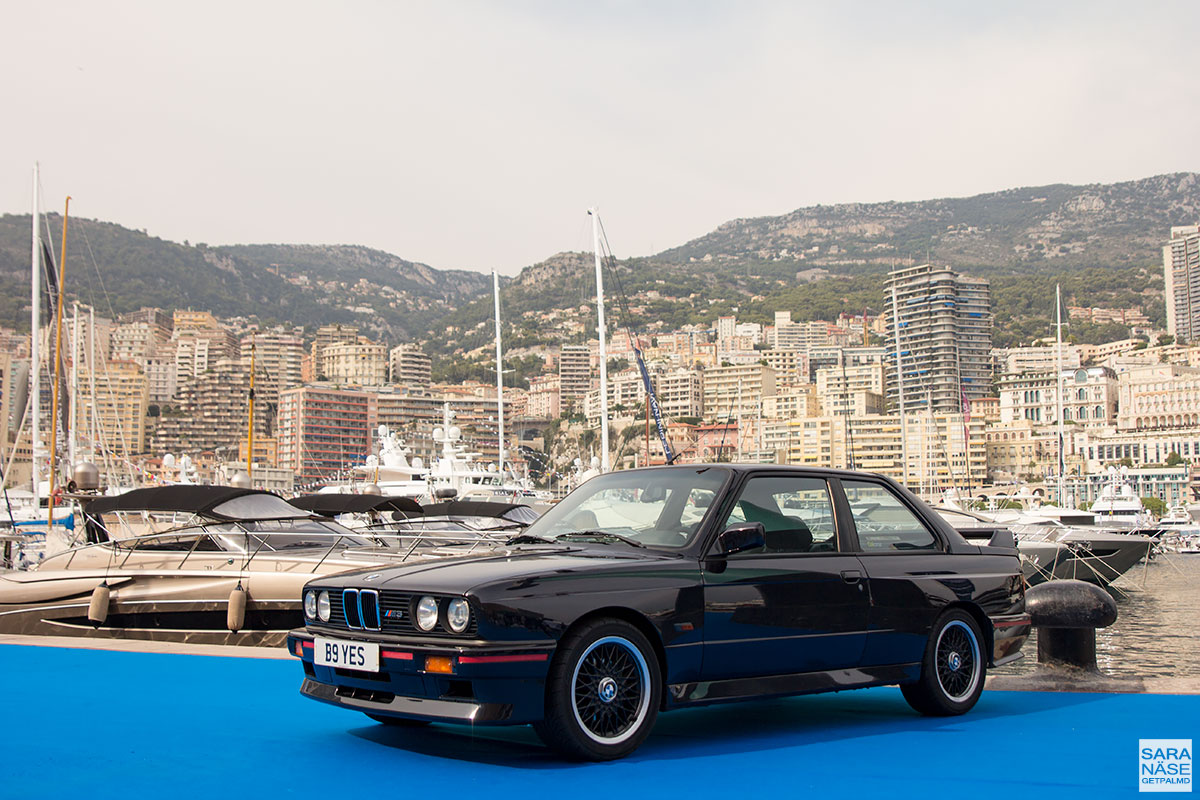
<instances>
[{"instance_id":1,"label":"front windshield of the black BMW","mask_svg":"<svg viewBox=\"0 0 1200 800\"><path fill-rule=\"evenodd\" d=\"M540 539L685 547L730 473L713 467L635 469L599 475L526 529Z\"/></svg>"}]
</instances>

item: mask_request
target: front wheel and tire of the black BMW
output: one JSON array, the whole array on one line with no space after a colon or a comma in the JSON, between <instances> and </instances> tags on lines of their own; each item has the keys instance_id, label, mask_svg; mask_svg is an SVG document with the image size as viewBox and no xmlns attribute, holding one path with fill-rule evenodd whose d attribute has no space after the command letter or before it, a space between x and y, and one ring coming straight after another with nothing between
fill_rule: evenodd
<instances>
[{"instance_id":1,"label":"front wheel and tire of the black BMW","mask_svg":"<svg viewBox=\"0 0 1200 800\"><path fill-rule=\"evenodd\" d=\"M546 678L538 736L576 760L606 762L637 750L658 718L659 660L632 625L598 619L558 644Z\"/></svg>"}]
</instances>

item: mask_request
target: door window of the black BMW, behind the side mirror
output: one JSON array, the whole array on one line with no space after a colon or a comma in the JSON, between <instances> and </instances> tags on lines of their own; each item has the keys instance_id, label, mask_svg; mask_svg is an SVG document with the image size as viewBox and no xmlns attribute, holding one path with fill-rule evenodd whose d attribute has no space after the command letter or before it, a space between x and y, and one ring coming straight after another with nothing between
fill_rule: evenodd
<instances>
[{"instance_id":1,"label":"door window of the black BMW, behind the side mirror","mask_svg":"<svg viewBox=\"0 0 1200 800\"><path fill-rule=\"evenodd\" d=\"M738 495L725 527L739 522L761 522L763 527L763 549L749 553L838 549L829 487L817 477L751 477Z\"/></svg>"}]
</instances>

